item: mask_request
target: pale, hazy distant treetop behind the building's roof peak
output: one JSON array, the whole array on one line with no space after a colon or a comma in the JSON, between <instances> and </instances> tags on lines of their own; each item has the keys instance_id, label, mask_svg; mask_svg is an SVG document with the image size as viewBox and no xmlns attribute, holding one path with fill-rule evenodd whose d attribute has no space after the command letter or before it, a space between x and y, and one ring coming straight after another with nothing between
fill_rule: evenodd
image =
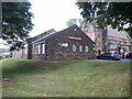
<instances>
[{"instance_id":1,"label":"pale, hazy distant treetop behind the building's roof peak","mask_svg":"<svg viewBox=\"0 0 132 99\"><path fill-rule=\"evenodd\" d=\"M69 19L67 22L66 22L66 25L67 26L72 26L74 24L80 26L82 20L81 19Z\"/></svg>"}]
</instances>

